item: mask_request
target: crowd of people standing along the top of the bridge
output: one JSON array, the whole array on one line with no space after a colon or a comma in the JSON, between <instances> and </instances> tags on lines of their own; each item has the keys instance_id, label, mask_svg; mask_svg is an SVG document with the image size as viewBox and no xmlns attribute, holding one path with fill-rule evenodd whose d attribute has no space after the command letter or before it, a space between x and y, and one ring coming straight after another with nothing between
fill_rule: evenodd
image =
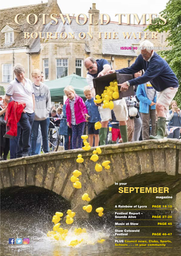
<instances>
[{"instance_id":1,"label":"crowd of people standing along the top of the bridge","mask_svg":"<svg viewBox=\"0 0 181 256\"><path fill-rule=\"evenodd\" d=\"M120 91L134 86L134 95L114 100L113 110L94 102L93 78L115 72L105 59L84 60L88 71L88 86L84 88L86 101L75 93L73 86L66 86L67 100L57 109L51 106L43 72L34 69L31 81L25 78L24 67L15 65L15 79L0 99L1 160L7 159L9 150L10 159L40 154L41 144L43 152L49 152L50 121L64 137L64 150L82 148L81 136L85 133L91 147L162 139L166 134L166 121L167 137L179 139L181 111L173 100L178 91L176 75L165 60L149 49L152 43L145 40L141 47L141 54L131 67L116 71L133 75L132 80L118 85ZM97 121L101 122L100 130L95 129Z\"/></svg>"}]
</instances>

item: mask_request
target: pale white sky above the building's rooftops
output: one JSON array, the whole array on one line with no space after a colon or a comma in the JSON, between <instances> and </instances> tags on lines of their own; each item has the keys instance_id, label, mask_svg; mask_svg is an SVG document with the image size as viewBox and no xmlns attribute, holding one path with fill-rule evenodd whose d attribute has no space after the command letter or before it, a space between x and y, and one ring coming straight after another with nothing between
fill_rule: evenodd
<instances>
[{"instance_id":1,"label":"pale white sky above the building's rooftops","mask_svg":"<svg viewBox=\"0 0 181 256\"><path fill-rule=\"evenodd\" d=\"M41 2L46 3L47 1L48 0L5 0L0 2L0 9L38 4ZM57 2L63 14L69 13L70 15L77 15L84 13L87 16L92 3L96 3L96 8L100 13L110 15L111 21L118 21L118 18L114 17L117 13L136 13L138 16L140 15L139 18L143 13L158 14L165 9L169 0L57 0Z\"/></svg>"}]
</instances>

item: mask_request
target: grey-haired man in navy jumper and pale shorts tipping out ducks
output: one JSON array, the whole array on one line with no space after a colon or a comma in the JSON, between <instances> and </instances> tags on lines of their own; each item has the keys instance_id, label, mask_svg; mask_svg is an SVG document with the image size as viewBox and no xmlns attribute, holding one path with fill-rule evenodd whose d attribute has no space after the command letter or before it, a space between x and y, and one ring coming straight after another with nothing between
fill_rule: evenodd
<instances>
[{"instance_id":1,"label":"grey-haired man in navy jumper and pale shorts tipping out ducks","mask_svg":"<svg viewBox=\"0 0 181 256\"><path fill-rule=\"evenodd\" d=\"M149 40L143 41L140 45L141 54L131 67L117 70L118 73L133 74L141 69L145 73L140 78L126 81L121 86L121 91L127 91L129 86L145 84L151 82L157 93L156 113L158 115L157 135L150 136L150 139L162 139L165 136L166 113L169 110L169 104L178 91L178 79L169 67L166 60L154 52L154 45ZM114 71L113 71L114 72ZM110 71L109 73L113 73Z\"/></svg>"}]
</instances>

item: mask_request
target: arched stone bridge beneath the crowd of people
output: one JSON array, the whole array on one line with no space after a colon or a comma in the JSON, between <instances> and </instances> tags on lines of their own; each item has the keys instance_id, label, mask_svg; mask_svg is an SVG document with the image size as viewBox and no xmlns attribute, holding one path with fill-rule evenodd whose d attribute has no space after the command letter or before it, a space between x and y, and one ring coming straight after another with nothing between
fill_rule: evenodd
<instances>
[{"instance_id":1,"label":"arched stone bridge beneath the crowd of people","mask_svg":"<svg viewBox=\"0 0 181 256\"><path fill-rule=\"evenodd\" d=\"M118 187L114 183L126 181L130 186L169 187L169 194L181 191L181 141L162 139L135 143L101 146L99 161L110 160L110 170L95 171L95 162L90 161L93 150L69 150L51 152L21 159L1 162L1 189L10 187L44 187L71 202L73 211L81 211L82 194L91 202L97 198L109 201L117 198ZM76 163L77 154L82 154L84 163ZM82 189L75 189L70 179L74 170L80 170ZM129 185L128 185L129 186ZM163 194L161 194L163 195ZM116 199L112 202L116 203ZM111 205L111 204L110 204Z\"/></svg>"}]
</instances>

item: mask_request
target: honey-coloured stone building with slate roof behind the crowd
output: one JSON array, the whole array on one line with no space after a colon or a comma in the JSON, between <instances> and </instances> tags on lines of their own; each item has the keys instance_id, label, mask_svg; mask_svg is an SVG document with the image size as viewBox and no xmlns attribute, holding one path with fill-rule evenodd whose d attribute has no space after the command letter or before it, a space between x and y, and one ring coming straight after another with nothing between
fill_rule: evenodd
<instances>
[{"instance_id":1,"label":"honey-coloured stone building with slate roof behind the crowd","mask_svg":"<svg viewBox=\"0 0 181 256\"><path fill-rule=\"evenodd\" d=\"M0 85L3 86L14 78L12 67L15 63L25 67L26 77L30 79L32 69L44 71L45 80L54 80L72 73L86 77L83 61L88 56L106 58L113 69L129 67L138 53L136 49L121 47L138 47L140 40L144 39L138 38L138 34L145 29L143 25L118 25L116 22L105 25L106 21L100 25L100 14L95 3L86 16L93 14L93 24L98 25L90 25L89 19L81 25L85 20L82 16L78 20L70 17L72 21L69 23L64 15L65 22L62 22L62 12L56 0L5 9L0 14ZM18 17L18 22L23 25L15 23L16 14L23 14ZM31 24L38 17L36 25L27 23L26 17L29 14L34 14L29 16ZM44 21L43 15L39 14L49 16ZM53 16L57 24L50 19L51 14L58 14Z\"/></svg>"}]
</instances>

